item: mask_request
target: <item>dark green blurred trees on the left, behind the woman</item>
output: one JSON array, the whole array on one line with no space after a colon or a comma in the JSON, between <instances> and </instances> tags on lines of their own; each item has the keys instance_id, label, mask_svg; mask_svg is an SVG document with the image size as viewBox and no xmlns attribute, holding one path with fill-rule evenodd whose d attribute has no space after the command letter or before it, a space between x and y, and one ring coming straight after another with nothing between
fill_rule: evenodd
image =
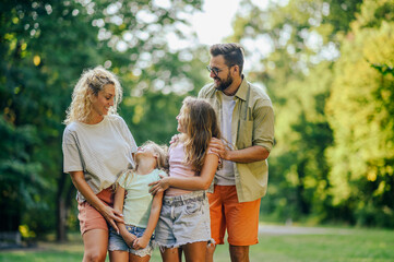
<instances>
[{"instance_id":1,"label":"dark green blurred trees on the left, behind the woman","mask_svg":"<svg viewBox=\"0 0 394 262\"><path fill-rule=\"evenodd\" d=\"M138 142L147 138L164 142L174 132L169 126L152 124L145 115L139 117L141 104L134 97L144 94L143 107L167 123L175 118L180 97L201 84L201 71L192 70L203 68L200 57L188 46L174 50L166 40L171 32L183 36L181 26L187 22L181 13L192 12L201 1L159 4L2 1L0 133L10 141L0 146L0 205L7 211L1 222L8 222L1 223L2 230L27 224L46 233L57 224L58 239L65 239L67 217L75 219L70 213L75 202L73 186L62 172L62 120L83 69L103 64L120 76L124 88L120 114L139 134ZM166 114L156 111L167 107ZM143 132L150 128L157 130L153 138Z\"/></svg>"}]
</instances>

